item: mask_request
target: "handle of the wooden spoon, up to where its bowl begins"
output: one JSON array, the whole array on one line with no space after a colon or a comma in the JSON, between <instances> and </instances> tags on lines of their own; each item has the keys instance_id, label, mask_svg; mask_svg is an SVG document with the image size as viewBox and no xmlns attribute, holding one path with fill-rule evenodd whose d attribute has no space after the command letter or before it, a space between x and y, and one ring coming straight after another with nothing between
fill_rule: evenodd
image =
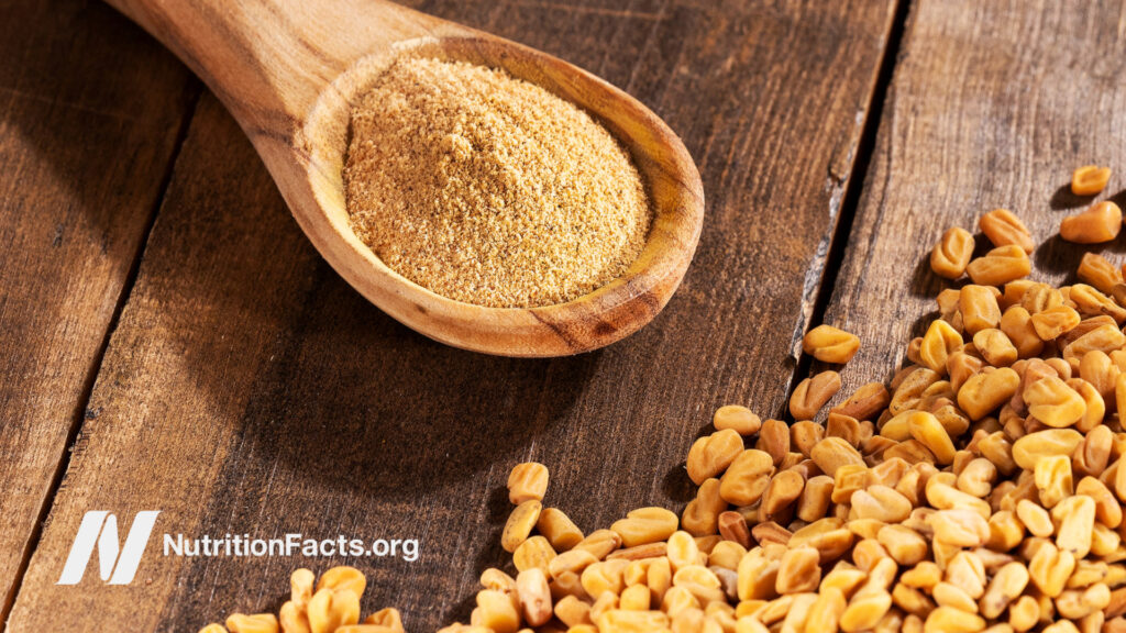
<instances>
[{"instance_id":1,"label":"handle of the wooden spoon, up to where its bowl begins","mask_svg":"<svg viewBox=\"0 0 1126 633\"><path fill-rule=\"evenodd\" d=\"M292 137L355 60L453 27L386 0L106 1L199 75L256 140Z\"/></svg>"}]
</instances>

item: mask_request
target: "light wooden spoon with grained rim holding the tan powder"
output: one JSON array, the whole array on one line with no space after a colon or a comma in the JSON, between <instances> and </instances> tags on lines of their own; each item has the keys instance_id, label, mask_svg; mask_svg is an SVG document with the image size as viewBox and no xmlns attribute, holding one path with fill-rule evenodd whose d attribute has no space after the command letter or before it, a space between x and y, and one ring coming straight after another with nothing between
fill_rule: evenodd
<instances>
[{"instance_id":1,"label":"light wooden spoon with grained rim holding the tan powder","mask_svg":"<svg viewBox=\"0 0 1126 633\"><path fill-rule=\"evenodd\" d=\"M691 157L645 106L566 62L384 0L108 1L218 96L324 259L381 310L430 338L506 356L596 349L652 320L688 268L704 219ZM629 150L655 209L637 261L588 295L535 309L446 298L383 264L349 226L341 168L350 104L397 55L503 69L599 119Z\"/></svg>"}]
</instances>

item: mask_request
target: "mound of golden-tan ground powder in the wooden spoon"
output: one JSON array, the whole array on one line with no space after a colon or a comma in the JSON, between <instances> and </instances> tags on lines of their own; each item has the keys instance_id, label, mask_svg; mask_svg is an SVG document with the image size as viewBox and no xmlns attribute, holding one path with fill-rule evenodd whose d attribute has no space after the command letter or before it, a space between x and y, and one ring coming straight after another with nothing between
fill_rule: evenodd
<instances>
[{"instance_id":1,"label":"mound of golden-tan ground powder in the wooden spoon","mask_svg":"<svg viewBox=\"0 0 1126 633\"><path fill-rule=\"evenodd\" d=\"M351 114L352 229L392 269L494 307L564 303L620 276L652 212L587 113L484 66L394 62Z\"/></svg>"}]
</instances>

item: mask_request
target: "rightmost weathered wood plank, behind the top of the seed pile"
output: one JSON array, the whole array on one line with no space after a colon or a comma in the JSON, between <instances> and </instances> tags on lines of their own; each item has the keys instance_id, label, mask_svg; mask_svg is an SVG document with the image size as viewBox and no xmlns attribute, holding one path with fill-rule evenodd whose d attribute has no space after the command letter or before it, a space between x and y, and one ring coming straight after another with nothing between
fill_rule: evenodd
<instances>
[{"instance_id":1,"label":"rightmost weathered wood plank, behind the top of the seed pile","mask_svg":"<svg viewBox=\"0 0 1126 633\"><path fill-rule=\"evenodd\" d=\"M1126 5L922 0L912 6L877 148L825 322L860 337L841 372L843 394L888 377L908 342L937 316L950 286L931 273L946 229L978 233L997 207L1017 213L1038 247L1033 278L1074 282L1082 253L1121 262L1124 240L1063 242L1060 221L1085 203L1067 185L1075 167L1126 179ZM980 248L988 240L978 233ZM1069 283L1070 283L1069 282Z\"/></svg>"}]
</instances>

